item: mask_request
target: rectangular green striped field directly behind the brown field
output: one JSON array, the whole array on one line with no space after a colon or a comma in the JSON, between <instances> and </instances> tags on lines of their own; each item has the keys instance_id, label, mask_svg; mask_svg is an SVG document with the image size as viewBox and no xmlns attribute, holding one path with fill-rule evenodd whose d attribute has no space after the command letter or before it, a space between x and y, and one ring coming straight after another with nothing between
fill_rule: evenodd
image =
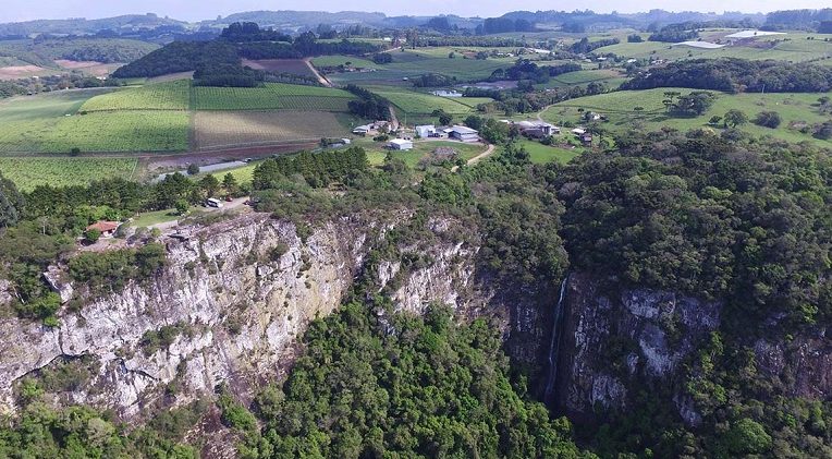
<instances>
[{"instance_id":1,"label":"rectangular green striped field directly behind the brown field","mask_svg":"<svg viewBox=\"0 0 832 459\"><path fill-rule=\"evenodd\" d=\"M308 98L308 100L306 100ZM318 86L268 83L265 87L194 87L194 110L330 110L345 111L354 96Z\"/></svg>"}]
</instances>

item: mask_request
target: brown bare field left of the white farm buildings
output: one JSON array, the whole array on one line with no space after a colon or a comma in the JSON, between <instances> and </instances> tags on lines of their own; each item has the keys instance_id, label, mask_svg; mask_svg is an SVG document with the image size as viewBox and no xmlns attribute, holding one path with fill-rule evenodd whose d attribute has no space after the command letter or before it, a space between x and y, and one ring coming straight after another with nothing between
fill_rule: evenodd
<instances>
[{"instance_id":1,"label":"brown bare field left of the white farm buildings","mask_svg":"<svg viewBox=\"0 0 832 459\"><path fill-rule=\"evenodd\" d=\"M197 150L314 142L347 134L334 114L316 111L197 111L193 126Z\"/></svg>"}]
</instances>

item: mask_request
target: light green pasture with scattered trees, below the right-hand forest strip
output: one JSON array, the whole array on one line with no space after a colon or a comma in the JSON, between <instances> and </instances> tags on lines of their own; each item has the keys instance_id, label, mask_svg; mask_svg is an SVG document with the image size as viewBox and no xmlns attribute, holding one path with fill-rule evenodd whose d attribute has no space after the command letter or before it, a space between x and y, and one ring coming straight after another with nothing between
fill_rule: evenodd
<instances>
[{"instance_id":1,"label":"light green pasture with scattered trees, below the right-hand forest strip","mask_svg":"<svg viewBox=\"0 0 832 459\"><path fill-rule=\"evenodd\" d=\"M610 122L603 125L613 132L626 132L634 129L640 131L657 131L661 126L670 126L681 131L707 126L707 122L713 116L723 116L730 109L744 111L753 119L760 111L776 111L783 119L778 129L761 128L753 123L742 125L741 129L753 135L771 135L788 142L809 141L818 145L832 146L832 142L813 138L797 130L790 129L790 123L807 122L809 124L829 120L829 116L818 112L813 106L823 94L795 94L795 93L770 93L761 94L717 94L713 106L702 116L693 118L672 118L664 112L662 100L664 92L677 90L687 94L692 89L686 88L658 88L648 90L620 90L590 97L567 100L551 107L543 113L543 118L554 124L564 121L577 123L580 117L578 109L594 110L607 114ZM644 111L636 112L635 107L644 107Z\"/></svg>"}]
</instances>

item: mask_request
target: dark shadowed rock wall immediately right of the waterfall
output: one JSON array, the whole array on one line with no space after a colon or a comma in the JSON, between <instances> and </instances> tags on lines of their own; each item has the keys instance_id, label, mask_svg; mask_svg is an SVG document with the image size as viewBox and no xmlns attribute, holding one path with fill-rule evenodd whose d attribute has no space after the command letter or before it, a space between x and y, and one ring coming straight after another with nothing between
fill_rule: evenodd
<instances>
[{"instance_id":1,"label":"dark shadowed rock wall immediately right of the waterfall","mask_svg":"<svg viewBox=\"0 0 832 459\"><path fill-rule=\"evenodd\" d=\"M722 304L673 292L620 289L616 282L573 274L554 403L575 419L599 408L626 409L631 391L672 386L682 362L720 325ZM680 414L698 414L681 395Z\"/></svg>"}]
</instances>

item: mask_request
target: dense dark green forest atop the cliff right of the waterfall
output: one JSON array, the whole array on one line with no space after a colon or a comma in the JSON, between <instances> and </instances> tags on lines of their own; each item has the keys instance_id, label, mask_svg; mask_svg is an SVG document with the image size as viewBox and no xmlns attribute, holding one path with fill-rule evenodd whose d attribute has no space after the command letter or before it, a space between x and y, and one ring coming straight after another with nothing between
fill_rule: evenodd
<instances>
[{"instance_id":1,"label":"dense dark green forest atop the cliff right of the waterfall","mask_svg":"<svg viewBox=\"0 0 832 459\"><path fill-rule=\"evenodd\" d=\"M830 158L804 146L748 152L707 131L664 138L616 138L622 154L580 157L553 181L572 262L724 298L746 317L832 317Z\"/></svg>"}]
</instances>

